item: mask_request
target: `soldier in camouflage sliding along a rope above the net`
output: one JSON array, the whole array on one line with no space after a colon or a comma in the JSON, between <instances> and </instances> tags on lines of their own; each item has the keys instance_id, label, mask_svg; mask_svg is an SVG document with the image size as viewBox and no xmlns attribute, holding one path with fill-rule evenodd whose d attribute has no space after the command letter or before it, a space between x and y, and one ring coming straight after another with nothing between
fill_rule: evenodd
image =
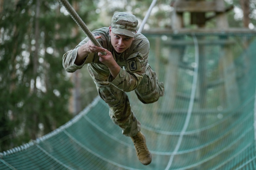
<instances>
[{"instance_id":1,"label":"soldier in camouflage sliding along a rope above the net","mask_svg":"<svg viewBox=\"0 0 256 170\"><path fill-rule=\"evenodd\" d=\"M92 32L102 48L95 46L87 37L63 55L63 67L74 72L88 64L100 97L110 107L111 120L120 126L123 135L131 137L138 159L148 165L152 156L126 92L135 90L138 99L147 104L163 96L164 87L148 64L149 41L137 33L137 25L134 15L115 13L111 26ZM103 52L107 55L102 55Z\"/></svg>"}]
</instances>

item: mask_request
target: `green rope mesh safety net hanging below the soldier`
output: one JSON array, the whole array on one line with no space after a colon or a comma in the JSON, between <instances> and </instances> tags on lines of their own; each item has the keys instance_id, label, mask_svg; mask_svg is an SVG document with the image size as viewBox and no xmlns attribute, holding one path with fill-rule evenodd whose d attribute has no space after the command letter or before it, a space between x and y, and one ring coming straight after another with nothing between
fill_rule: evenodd
<instances>
[{"instance_id":1,"label":"green rope mesh safety net hanging below the soldier","mask_svg":"<svg viewBox=\"0 0 256 170\"><path fill-rule=\"evenodd\" d=\"M256 33L145 35L165 95L153 104L128 96L150 165L97 97L50 134L0 153L0 169L255 169Z\"/></svg>"}]
</instances>

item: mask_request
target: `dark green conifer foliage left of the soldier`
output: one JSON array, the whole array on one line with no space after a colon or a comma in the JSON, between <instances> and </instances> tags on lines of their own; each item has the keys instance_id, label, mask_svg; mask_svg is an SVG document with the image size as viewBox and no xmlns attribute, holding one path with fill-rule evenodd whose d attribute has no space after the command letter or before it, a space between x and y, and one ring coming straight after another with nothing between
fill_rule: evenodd
<instances>
[{"instance_id":1,"label":"dark green conifer foliage left of the soldier","mask_svg":"<svg viewBox=\"0 0 256 170\"><path fill-rule=\"evenodd\" d=\"M70 120L68 101L73 85L62 67L62 55L84 36L80 30L72 36L77 25L63 14L57 1L3 2L0 152L49 133ZM85 7L81 5L83 1L72 3ZM97 15L93 1L87 3L90 5L79 14L89 23Z\"/></svg>"}]
</instances>

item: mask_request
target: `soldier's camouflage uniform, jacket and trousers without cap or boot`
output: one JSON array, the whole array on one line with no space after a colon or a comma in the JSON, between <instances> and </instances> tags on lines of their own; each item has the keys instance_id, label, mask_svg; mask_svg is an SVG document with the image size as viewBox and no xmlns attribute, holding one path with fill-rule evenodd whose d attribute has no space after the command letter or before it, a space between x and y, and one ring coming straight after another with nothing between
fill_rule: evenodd
<instances>
[{"instance_id":1,"label":"soldier's camouflage uniform, jacket and trousers without cap or boot","mask_svg":"<svg viewBox=\"0 0 256 170\"><path fill-rule=\"evenodd\" d=\"M101 35L98 39L101 46L109 50L120 66L118 76L113 79L106 65L99 61L97 53L90 53L80 66L74 64L78 48L89 41L87 37L78 46L63 55L63 67L68 72L81 69L88 64L88 71L93 78L100 97L109 105L111 120L120 126L123 134L134 136L140 131L140 122L136 119L126 92L135 90L143 103L153 103L164 93L163 83L159 83L155 72L148 64L149 41L141 33L136 33L131 46L118 55L111 45L109 27L92 32ZM123 69L125 67L125 70Z\"/></svg>"}]
</instances>

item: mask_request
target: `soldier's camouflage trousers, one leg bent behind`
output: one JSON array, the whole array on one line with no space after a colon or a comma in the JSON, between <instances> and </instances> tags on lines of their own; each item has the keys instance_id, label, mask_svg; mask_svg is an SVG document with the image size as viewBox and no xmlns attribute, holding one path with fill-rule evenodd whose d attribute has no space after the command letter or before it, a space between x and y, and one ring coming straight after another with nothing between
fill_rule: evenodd
<instances>
[{"instance_id":1,"label":"soldier's camouflage trousers, one leg bent behind","mask_svg":"<svg viewBox=\"0 0 256 170\"><path fill-rule=\"evenodd\" d=\"M96 84L100 97L110 108L111 120L122 129L123 135L135 136L140 131L141 124L131 109L126 92L107 81L110 74L108 68L88 64L88 71ZM135 93L138 99L145 104L153 103L164 95L163 82L158 82L156 73L149 65Z\"/></svg>"}]
</instances>

